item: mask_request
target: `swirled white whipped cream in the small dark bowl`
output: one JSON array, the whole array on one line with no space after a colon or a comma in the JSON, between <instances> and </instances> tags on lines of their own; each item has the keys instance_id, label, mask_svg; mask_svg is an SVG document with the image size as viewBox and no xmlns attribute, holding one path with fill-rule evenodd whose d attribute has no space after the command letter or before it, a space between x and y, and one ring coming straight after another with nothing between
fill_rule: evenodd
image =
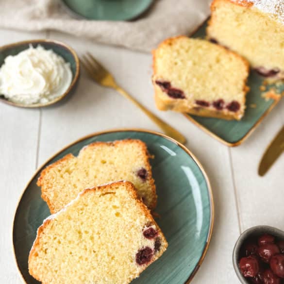
<instances>
[{"instance_id":1,"label":"swirled white whipped cream in the small dark bowl","mask_svg":"<svg viewBox=\"0 0 284 284\"><path fill-rule=\"evenodd\" d=\"M63 95L72 81L70 64L41 45L5 58L0 94L23 104L47 103Z\"/></svg>"}]
</instances>

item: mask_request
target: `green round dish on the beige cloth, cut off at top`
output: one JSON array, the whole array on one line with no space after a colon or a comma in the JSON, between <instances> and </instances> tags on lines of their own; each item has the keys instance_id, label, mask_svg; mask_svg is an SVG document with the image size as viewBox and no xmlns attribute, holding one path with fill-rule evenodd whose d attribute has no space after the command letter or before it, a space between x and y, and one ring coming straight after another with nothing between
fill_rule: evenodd
<instances>
[{"instance_id":1,"label":"green round dish on the beige cloth, cut off at top","mask_svg":"<svg viewBox=\"0 0 284 284\"><path fill-rule=\"evenodd\" d=\"M63 0L67 8L91 20L123 21L138 17L153 0Z\"/></svg>"}]
</instances>

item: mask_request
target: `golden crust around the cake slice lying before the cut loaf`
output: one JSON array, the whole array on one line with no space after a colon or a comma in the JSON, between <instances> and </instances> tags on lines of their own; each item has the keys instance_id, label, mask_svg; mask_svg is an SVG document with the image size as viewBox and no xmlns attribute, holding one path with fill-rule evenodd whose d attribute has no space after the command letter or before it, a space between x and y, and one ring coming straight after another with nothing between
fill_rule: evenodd
<instances>
[{"instance_id":1,"label":"golden crust around the cake slice lying before the cut loaf","mask_svg":"<svg viewBox=\"0 0 284 284\"><path fill-rule=\"evenodd\" d=\"M219 1L219 0L217 0ZM156 67L156 52L157 50L163 48L164 46L171 46L173 44L174 41L178 40L178 39L182 39L182 38L188 38L185 35L179 35L179 36L175 36L175 37L170 37L167 38L166 40L164 40L162 43L159 44L159 46L157 47L157 49L152 50L152 58L153 58L153 62L152 62L152 68L153 68L153 75L152 78L157 74L157 67ZM239 60L241 60L245 67L246 67L246 71L249 74L250 71L250 65L248 63L247 60L245 60L242 56L240 56L239 54L235 53L232 50L228 50L227 48L223 47L223 46L219 46L220 48L222 48L227 54L232 54L235 58L238 58ZM159 88L155 82L153 82L154 85L154 92L155 92L155 102L156 102L156 107L159 110L173 110L176 112L182 112L182 113L188 113L188 114L192 114L192 115L197 115L197 116L201 116L201 117L215 117L215 118L221 118L221 119L227 119L227 120L231 120L231 119L236 119L236 120L240 120L241 117L239 115L239 113L224 113L223 111L218 111L218 110L211 110L211 109L206 109L206 108L202 108L202 107L197 107L197 108L188 108L186 106L182 105L182 102L180 102L180 104L176 105L176 99L172 99L170 97L166 98L166 99L161 99L161 97L159 95L163 94L163 91L161 90L161 88ZM249 86L247 85L247 78L245 78L243 80L243 93L244 93L244 97L243 100L241 101L241 103L243 105L245 105L246 102L246 95L247 92L250 90Z\"/></svg>"}]
</instances>

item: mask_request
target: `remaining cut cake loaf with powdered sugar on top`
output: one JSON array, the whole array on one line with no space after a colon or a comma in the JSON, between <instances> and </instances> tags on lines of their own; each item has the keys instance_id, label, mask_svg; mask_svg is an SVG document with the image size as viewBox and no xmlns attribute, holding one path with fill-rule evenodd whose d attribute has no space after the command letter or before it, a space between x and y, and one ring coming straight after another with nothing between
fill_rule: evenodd
<instances>
[{"instance_id":1,"label":"remaining cut cake loaf with powdered sugar on top","mask_svg":"<svg viewBox=\"0 0 284 284\"><path fill-rule=\"evenodd\" d=\"M214 0L208 37L265 77L284 78L284 1Z\"/></svg>"}]
</instances>

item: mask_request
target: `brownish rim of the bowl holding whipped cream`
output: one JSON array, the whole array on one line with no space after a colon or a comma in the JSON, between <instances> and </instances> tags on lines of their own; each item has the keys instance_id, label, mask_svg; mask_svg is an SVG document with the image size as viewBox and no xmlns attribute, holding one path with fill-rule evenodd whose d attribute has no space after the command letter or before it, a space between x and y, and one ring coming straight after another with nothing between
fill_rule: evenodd
<instances>
[{"instance_id":1,"label":"brownish rim of the bowl holding whipped cream","mask_svg":"<svg viewBox=\"0 0 284 284\"><path fill-rule=\"evenodd\" d=\"M57 46L61 46L65 49L67 49L72 54L74 61L75 61L75 65L76 65L76 71L75 71L75 74L73 76L73 79L72 79L68 89L60 97L57 97L56 99L51 100L47 103L23 104L23 103L13 102L13 101L10 101L10 100L7 100L7 99L0 99L1 102L12 105L12 106L16 106L16 107L22 107L22 108L39 108L39 107L50 106L50 105L58 102L59 100L62 100L63 98L65 98L71 92L71 90L74 88L75 84L77 83L77 81L79 79L79 75L80 75L80 60L79 60L79 57L78 57L76 51L73 48L71 48L70 46L68 46L67 44L65 44L64 42L54 40L54 39L23 40L23 41L17 41L17 42L14 42L14 43L10 43L10 44L6 44L6 45L1 46L0 52L2 50L17 47L17 46L24 45L24 44L36 44L36 43L37 44L53 43Z\"/></svg>"}]
</instances>

